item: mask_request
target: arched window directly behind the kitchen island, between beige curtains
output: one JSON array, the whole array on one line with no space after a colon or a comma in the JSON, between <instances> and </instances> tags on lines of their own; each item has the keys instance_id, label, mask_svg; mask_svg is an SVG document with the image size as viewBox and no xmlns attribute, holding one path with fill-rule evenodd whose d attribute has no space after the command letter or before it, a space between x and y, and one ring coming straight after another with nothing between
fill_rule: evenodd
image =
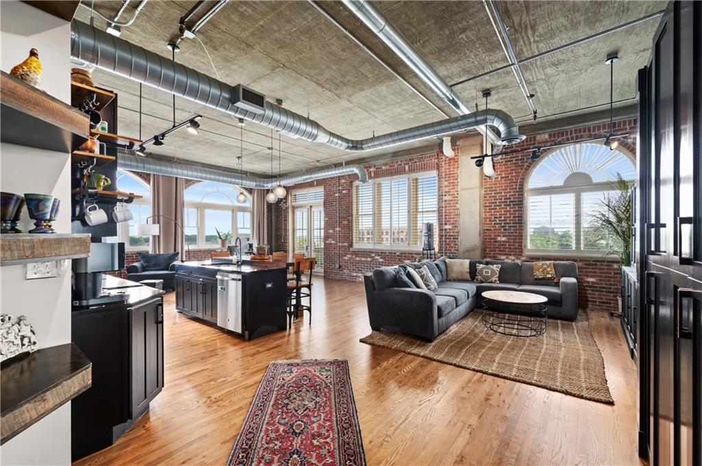
<instances>
[{"instance_id":1,"label":"arched window directly behind the kitchen island, between beige curtains","mask_svg":"<svg viewBox=\"0 0 702 466\"><path fill-rule=\"evenodd\" d=\"M251 238L251 196L239 203L239 187L216 181L201 181L185 189L183 228L185 243L217 247L217 230L232 233L232 238Z\"/></svg>"}]
</instances>

